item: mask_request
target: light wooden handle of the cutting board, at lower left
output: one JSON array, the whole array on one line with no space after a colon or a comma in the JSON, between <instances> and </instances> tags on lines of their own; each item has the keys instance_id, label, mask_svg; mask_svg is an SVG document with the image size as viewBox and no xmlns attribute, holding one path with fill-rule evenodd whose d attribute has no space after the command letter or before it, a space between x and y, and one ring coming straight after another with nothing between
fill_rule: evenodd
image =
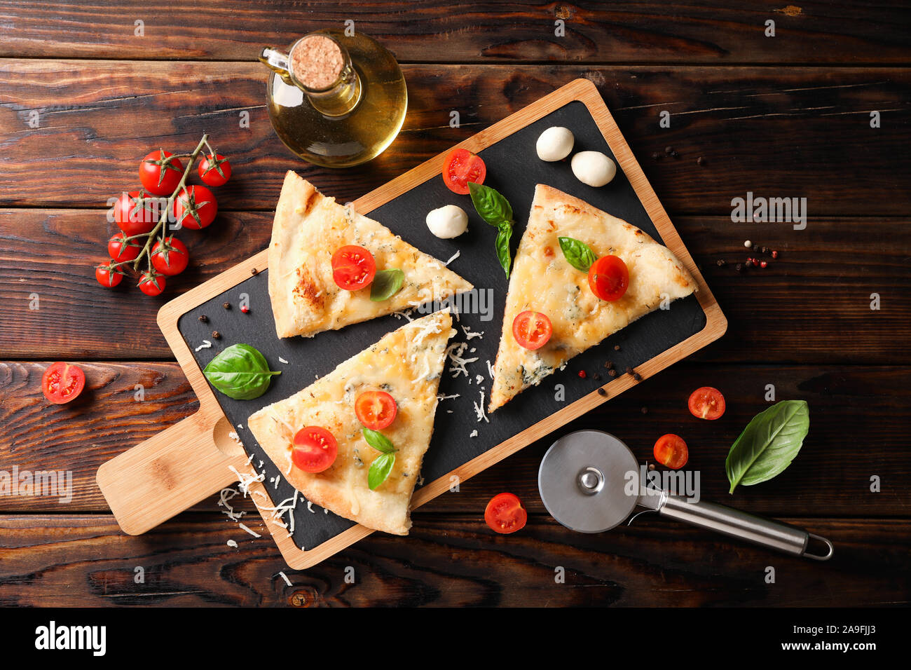
<instances>
[{"instance_id":1,"label":"light wooden handle of the cutting board, at lower left","mask_svg":"<svg viewBox=\"0 0 911 670\"><path fill-rule=\"evenodd\" d=\"M120 528L139 535L238 480L250 469L223 415L196 414L103 463L98 488Z\"/></svg>"}]
</instances>

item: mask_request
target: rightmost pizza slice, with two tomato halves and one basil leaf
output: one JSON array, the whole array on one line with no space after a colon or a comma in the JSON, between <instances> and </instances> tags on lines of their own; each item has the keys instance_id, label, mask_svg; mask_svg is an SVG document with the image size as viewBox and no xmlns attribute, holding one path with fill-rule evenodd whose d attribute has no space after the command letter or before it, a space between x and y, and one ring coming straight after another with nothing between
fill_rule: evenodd
<instances>
[{"instance_id":1,"label":"rightmost pizza slice, with two tomato halves and one basil leaf","mask_svg":"<svg viewBox=\"0 0 911 670\"><path fill-rule=\"evenodd\" d=\"M568 255L560 238L574 241L568 242ZM622 263L611 262L625 266L629 274L619 299L601 299L589 284L589 273L568 260L573 257L578 265L588 267L605 256L618 257ZM509 278L488 411L658 309L665 298L676 300L695 290L696 283L677 257L645 232L588 202L538 184ZM545 344L540 345L547 336L547 324L526 312L544 314L549 320L551 334ZM539 348L526 348L517 341L513 325L520 314L519 337Z\"/></svg>"}]
</instances>

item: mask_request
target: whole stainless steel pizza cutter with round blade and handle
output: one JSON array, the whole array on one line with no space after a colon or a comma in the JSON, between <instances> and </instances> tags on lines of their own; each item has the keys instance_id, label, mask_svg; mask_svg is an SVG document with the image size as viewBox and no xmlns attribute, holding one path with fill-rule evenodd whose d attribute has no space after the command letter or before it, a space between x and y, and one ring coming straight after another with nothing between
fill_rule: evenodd
<instances>
[{"instance_id":1,"label":"whole stainless steel pizza cutter with round blade and handle","mask_svg":"<svg viewBox=\"0 0 911 670\"><path fill-rule=\"evenodd\" d=\"M639 506L795 556L832 558L832 542L812 532L713 502L690 502L641 479L639 462L622 441L600 430L577 430L550 446L537 471L537 490L550 515L571 531L609 531ZM828 551L807 551L811 538Z\"/></svg>"}]
</instances>

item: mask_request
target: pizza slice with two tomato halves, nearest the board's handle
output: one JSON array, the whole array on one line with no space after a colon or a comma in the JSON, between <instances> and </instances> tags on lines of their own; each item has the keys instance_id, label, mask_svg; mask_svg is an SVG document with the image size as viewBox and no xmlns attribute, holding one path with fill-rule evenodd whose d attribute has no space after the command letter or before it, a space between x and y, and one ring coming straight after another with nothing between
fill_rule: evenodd
<instances>
[{"instance_id":1,"label":"pizza slice with two tomato halves, nearest the board's handle","mask_svg":"<svg viewBox=\"0 0 911 670\"><path fill-rule=\"evenodd\" d=\"M292 397L263 407L247 425L307 500L368 528L407 535L411 496L434 430L436 390L452 335L448 310L416 319ZM387 476L373 488L382 465L393 457L368 443L372 439L376 444L378 438L364 434L364 423L396 449ZM317 462L323 458L318 449L312 452L327 441L337 445L331 465ZM379 446L388 450L388 443ZM377 459L384 460L374 468Z\"/></svg>"}]
</instances>

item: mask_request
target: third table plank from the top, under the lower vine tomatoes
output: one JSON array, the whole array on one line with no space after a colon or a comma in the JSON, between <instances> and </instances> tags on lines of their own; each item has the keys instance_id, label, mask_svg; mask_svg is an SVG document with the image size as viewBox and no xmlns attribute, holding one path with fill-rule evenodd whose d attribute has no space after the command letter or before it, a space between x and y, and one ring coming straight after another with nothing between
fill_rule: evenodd
<instances>
[{"instance_id":1,"label":"third table plank from the top, under the lower vine tomatoes","mask_svg":"<svg viewBox=\"0 0 911 670\"><path fill-rule=\"evenodd\" d=\"M804 231L719 216L672 220L729 319L728 333L698 359L911 364L911 350L896 346L911 338L905 219L815 218ZM222 212L204 231L180 232L193 260L157 299L127 282L114 291L96 283L92 268L105 260L115 230L104 211L0 210L0 301L8 317L0 356L171 358L155 323L161 304L264 249L271 213ZM737 273L745 239L779 250L779 260ZM728 264L719 267L719 259ZM874 293L878 311L870 309ZM39 296L37 310L29 309L31 294Z\"/></svg>"}]
</instances>

